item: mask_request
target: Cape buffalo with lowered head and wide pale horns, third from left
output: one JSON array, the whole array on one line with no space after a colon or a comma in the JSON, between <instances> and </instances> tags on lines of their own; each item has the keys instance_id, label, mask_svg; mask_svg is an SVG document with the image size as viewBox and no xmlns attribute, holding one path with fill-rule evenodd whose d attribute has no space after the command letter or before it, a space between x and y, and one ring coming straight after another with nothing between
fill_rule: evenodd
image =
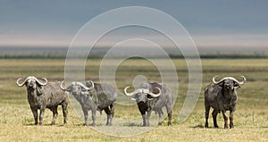
<instances>
[{"instance_id":1,"label":"Cape buffalo with lowered head and wide pale horns, third from left","mask_svg":"<svg viewBox=\"0 0 268 142\"><path fill-rule=\"evenodd\" d=\"M163 106L166 107L168 113L168 125L172 125L172 90L166 85L161 83L143 82L139 85L138 89L134 92L128 93L124 88L124 94L126 96L133 96L132 99L136 100L138 104L138 110L142 115L143 126L150 125L150 116L152 111L155 111L159 115L158 125L163 122Z\"/></svg>"}]
</instances>

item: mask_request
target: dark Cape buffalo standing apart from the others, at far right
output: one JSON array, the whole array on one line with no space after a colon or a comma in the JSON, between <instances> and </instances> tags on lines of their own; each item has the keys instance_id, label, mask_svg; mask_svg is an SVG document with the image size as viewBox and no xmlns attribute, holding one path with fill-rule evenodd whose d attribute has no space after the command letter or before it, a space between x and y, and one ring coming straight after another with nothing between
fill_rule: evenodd
<instances>
[{"instance_id":1,"label":"dark Cape buffalo standing apart from the others, at far right","mask_svg":"<svg viewBox=\"0 0 268 142\"><path fill-rule=\"evenodd\" d=\"M208 115L210 107L214 108L212 113L214 118L214 127L218 128L217 124L217 114L222 113L224 119L224 129L228 129L228 117L226 111L230 111L230 129L233 126L233 113L236 110L236 104L238 102L238 96L236 89L240 88L240 85L246 82L246 78L243 81L238 81L232 77L225 77L220 81L215 81L215 76L213 78L213 83L209 84L205 88L205 128L208 128Z\"/></svg>"}]
</instances>

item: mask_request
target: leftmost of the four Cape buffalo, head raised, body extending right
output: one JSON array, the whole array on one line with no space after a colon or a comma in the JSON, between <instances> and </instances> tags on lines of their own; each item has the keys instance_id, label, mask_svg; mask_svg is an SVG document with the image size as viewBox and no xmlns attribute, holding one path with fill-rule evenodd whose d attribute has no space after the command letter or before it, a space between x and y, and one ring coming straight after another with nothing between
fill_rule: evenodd
<instances>
[{"instance_id":1,"label":"leftmost of the four Cape buffalo, head raised, body extending right","mask_svg":"<svg viewBox=\"0 0 268 142\"><path fill-rule=\"evenodd\" d=\"M39 125L42 125L45 109L49 108L53 112L53 120L51 124L54 125L55 119L58 115L58 105L63 106L63 122L66 123L69 99L60 88L61 82L47 82L46 78L42 79L44 79L45 82L42 82L33 76L29 76L27 79L24 79L22 83L19 83L21 78L17 79L17 85L19 87L25 85L27 88L28 102L31 112L34 115L35 124L38 124L38 109L40 110Z\"/></svg>"}]
</instances>

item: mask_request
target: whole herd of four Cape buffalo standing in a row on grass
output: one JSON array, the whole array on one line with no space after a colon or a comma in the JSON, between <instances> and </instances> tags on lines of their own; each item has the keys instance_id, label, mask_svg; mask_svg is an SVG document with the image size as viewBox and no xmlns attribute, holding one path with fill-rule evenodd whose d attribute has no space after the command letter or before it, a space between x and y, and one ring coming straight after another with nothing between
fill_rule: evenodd
<instances>
[{"instance_id":1,"label":"whole herd of four Cape buffalo standing in a row on grass","mask_svg":"<svg viewBox=\"0 0 268 142\"><path fill-rule=\"evenodd\" d=\"M236 110L238 96L236 89L246 82L233 77L225 77L220 80L212 79L212 82L205 88L205 128L208 128L209 110L212 107L214 127L218 128L217 114L222 113L224 119L224 129L234 128L233 113ZM21 83L20 83L21 82ZM92 80L72 81L69 86L64 86L64 81L48 82L46 78L37 79L29 76L26 79L17 79L17 86L25 86L27 89L28 102L33 113L35 124L42 125L45 109L48 108L53 113L51 124L55 124L58 115L57 107L63 107L63 123L67 122L67 105L69 94L74 96L80 103L84 113L85 125L88 125L88 111L91 111L89 124L96 126L96 111L100 113L104 110L107 115L106 125L113 125L114 104L120 92L117 88L109 84L95 83ZM142 116L142 126L150 126L150 115L155 112L159 115L158 125L163 123L163 107L168 114L168 125L172 125L172 89L163 83L140 82L138 88L130 92L130 86L123 89L125 96L131 96L131 100L136 101L138 111ZM38 114L39 110L39 114ZM226 111L230 111L230 124Z\"/></svg>"}]
</instances>

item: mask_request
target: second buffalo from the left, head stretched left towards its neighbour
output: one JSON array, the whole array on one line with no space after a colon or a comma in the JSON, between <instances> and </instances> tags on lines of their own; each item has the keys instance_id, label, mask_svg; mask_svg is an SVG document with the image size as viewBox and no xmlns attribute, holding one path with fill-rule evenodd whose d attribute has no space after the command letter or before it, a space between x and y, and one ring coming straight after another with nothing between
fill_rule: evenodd
<instances>
[{"instance_id":1,"label":"second buffalo from the left, head stretched left towards its neighbour","mask_svg":"<svg viewBox=\"0 0 268 142\"><path fill-rule=\"evenodd\" d=\"M118 92L111 85L94 83L91 80L86 82L73 81L68 88L61 88L72 94L79 101L84 113L85 125L88 125L88 111L92 113L91 126L96 126L96 111L103 111L107 114L106 125L112 125L114 115L114 104Z\"/></svg>"}]
</instances>

